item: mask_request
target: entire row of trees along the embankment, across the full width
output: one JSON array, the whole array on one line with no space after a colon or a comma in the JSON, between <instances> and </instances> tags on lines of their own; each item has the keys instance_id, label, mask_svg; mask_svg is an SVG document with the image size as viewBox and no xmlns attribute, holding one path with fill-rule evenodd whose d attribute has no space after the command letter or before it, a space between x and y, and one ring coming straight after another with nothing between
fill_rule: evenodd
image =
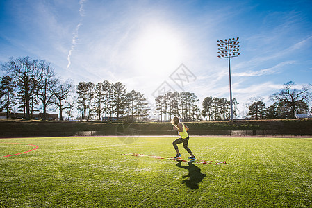
<instances>
[{"instance_id":1,"label":"entire row of trees along the embankment, across the full width","mask_svg":"<svg viewBox=\"0 0 312 208\"><path fill-rule=\"evenodd\" d=\"M171 120L179 116L183 121L223 121L230 119L230 101L227 98L208 96L202 101L202 110L195 93L167 92L155 98L152 106L144 94L131 90L120 82L80 82L74 86L72 80L63 81L49 62L29 57L9 58L1 64L8 75L0 77L0 111L10 118L13 112L23 112L25 119L32 119L35 112L47 119L48 112L58 110L67 119L100 121L147 121L152 112L158 121ZM76 88L75 88L76 87ZM283 89L270 96L273 105L265 107L263 98L251 98L247 103L250 119L288 119L295 113L309 112L311 85L296 89L295 83L284 84ZM233 115L238 118L238 101L233 98ZM312 110L312 109L311 109Z\"/></svg>"}]
</instances>

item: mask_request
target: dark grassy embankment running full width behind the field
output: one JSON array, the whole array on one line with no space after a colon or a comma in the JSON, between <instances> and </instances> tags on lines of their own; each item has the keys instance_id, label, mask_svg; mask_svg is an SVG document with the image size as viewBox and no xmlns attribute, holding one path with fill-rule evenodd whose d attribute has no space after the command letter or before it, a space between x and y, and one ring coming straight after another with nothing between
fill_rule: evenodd
<instances>
[{"instance_id":1,"label":"dark grassy embankment running full width behind the field","mask_svg":"<svg viewBox=\"0 0 312 208\"><path fill-rule=\"evenodd\" d=\"M312 119L186 122L190 135L312 135ZM236 132L240 131L240 132ZM0 137L176 135L170 123L0 120Z\"/></svg>"}]
</instances>

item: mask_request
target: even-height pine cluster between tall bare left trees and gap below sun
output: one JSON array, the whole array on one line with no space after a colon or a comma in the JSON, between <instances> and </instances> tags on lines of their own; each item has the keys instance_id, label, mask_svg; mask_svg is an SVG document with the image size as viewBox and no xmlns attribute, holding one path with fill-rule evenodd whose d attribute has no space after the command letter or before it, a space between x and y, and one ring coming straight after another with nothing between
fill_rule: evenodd
<instances>
[{"instance_id":1,"label":"even-height pine cluster between tall bare left trees and gap below sun","mask_svg":"<svg viewBox=\"0 0 312 208\"><path fill-rule=\"evenodd\" d=\"M101 121L145 121L150 106L144 94L131 90L120 82L80 82L76 86L78 119Z\"/></svg>"}]
</instances>

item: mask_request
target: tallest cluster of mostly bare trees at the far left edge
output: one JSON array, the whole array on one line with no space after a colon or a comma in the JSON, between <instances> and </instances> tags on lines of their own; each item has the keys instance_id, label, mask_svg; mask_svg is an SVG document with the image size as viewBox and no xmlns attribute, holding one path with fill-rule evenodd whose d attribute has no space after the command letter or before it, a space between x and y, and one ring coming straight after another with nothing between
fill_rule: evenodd
<instances>
[{"instance_id":1,"label":"tallest cluster of mostly bare trees at the far left edge","mask_svg":"<svg viewBox=\"0 0 312 208\"><path fill-rule=\"evenodd\" d=\"M33 60L29 57L9 58L2 65L8 75L1 77L1 106L6 110L7 118L11 112L24 112L25 119L31 119L41 104L42 118L46 119L51 105L58 108L60 118L65 109L66 99L72 92L72 83L65 83L56 78L51 64L44 60ZM14 107L17 106L17 110Z\"/></svg>"}]
</instances>

